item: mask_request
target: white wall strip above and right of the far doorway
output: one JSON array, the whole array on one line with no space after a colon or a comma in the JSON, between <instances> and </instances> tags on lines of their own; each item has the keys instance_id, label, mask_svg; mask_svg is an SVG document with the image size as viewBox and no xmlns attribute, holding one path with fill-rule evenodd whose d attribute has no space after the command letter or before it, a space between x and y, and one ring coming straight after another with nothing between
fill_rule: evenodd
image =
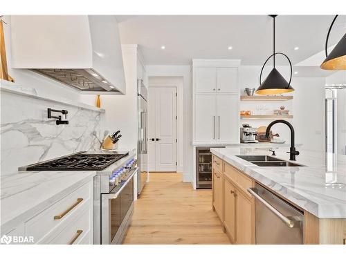
<instances>
[{"instance_id":1,"label":"white wall strip above and right of the far doorway","mask_svg":"<svg viewBox=\"0 0 346 259\"><path fill-rule=\"evenodd\" d=\"M192 81L190 66L147 66L148 77L183 77L183 108L178 116L183 117L183 182L192 182Z\"/></svg>"}]
</instances>

